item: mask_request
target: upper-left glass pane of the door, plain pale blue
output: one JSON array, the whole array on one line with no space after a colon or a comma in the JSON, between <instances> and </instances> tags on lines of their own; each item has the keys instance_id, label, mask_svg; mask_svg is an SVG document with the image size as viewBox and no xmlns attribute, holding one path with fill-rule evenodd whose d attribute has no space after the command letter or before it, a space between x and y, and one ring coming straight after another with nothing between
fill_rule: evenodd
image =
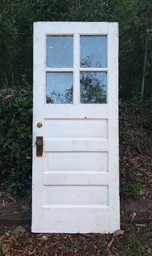
<instances>
[{"instance_id":1,"label":"upper-left glass pane of the door, plain pale blue","mask_svg":"<svg viewBox=\"0 0 152 256\"><path fill-rule=\"evenodd\" d=\"M72 35L48 35L46 37L46 66L73 68Z\"/></svg>"}]
</instances>

